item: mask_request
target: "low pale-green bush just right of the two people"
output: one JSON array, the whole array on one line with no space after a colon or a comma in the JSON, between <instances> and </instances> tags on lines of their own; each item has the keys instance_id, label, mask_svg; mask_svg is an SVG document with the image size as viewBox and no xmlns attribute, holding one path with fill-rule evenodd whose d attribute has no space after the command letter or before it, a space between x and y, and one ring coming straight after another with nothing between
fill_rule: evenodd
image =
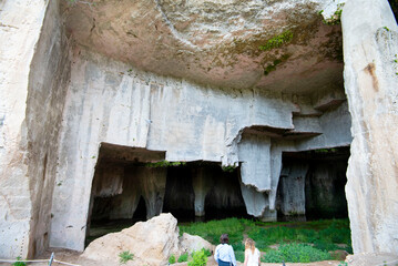
<instances>
[{"instance_id":1,"label":"low pale-green bush just right of the two people","mask_svg":"<svg viewBox=\"0 0 398 266\"><path fill-rule=\"evenodd\" d=\"M262 257L263 263L312 263L331 259L330 254L306 244L283 244L277 250L269 250Z\"/></svg>"}]
</instances>

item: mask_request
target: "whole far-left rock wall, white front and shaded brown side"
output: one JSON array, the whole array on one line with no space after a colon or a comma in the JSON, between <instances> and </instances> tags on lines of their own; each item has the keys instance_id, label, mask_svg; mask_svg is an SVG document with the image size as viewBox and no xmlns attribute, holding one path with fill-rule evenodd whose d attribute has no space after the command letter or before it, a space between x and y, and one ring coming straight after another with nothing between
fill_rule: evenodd
<instances>
[{"instance_id":1,"label":"whole far-left rock wall, white front and shaded brown side","mask_svg":"<svg viewBox=\"0 0 398 266\"><path fill-rule=\"evenodd\" d=\"M58 1L0 6L0 257L14 258L48 245L69 63Z\"/></svg>"}]
</instances>

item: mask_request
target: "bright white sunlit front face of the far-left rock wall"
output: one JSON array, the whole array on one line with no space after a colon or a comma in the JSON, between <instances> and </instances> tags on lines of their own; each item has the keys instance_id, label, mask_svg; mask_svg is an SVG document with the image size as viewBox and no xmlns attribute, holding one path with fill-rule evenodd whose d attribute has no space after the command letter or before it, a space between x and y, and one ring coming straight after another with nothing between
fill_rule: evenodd
<instances>
[{"instance_id":1,"label":"bright white sunlit front face of the far-left rock wall","mask_svg":"<svg viewBox=\"0 0 398 266\"><path fill-rule=\"evenodd\" d=\"M0 2L0 257L32 253L34 187L28 165L28 86L44 1Z\"/></svg>"}]
</instances>

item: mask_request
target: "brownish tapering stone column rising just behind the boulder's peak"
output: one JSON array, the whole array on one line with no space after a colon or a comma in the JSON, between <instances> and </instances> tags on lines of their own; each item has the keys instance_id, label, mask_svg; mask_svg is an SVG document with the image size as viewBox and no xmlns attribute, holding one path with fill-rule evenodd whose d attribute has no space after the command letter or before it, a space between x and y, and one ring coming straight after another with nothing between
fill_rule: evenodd
<instances>
[{"instance_id":1,"label":"brownish tapering stone column rising just behind the boulder's peak","mask_svg":"<svg viewBox=\"0 0 398 266\"><path fill-rule=\"evenodd\" d=\"M162 213L166 175L167 168L165 167L139 167L137 170L147 219Z\"/></svg>"}]
</instances>

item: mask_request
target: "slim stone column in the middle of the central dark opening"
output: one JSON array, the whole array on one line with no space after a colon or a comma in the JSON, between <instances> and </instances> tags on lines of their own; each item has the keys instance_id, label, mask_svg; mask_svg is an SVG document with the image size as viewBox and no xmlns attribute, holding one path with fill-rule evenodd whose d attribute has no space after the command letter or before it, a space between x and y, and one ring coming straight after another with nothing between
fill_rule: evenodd
<instances>
[{"instance_id":1,"label":"slim stone column in the middle of the central dark opening","mask_svg":"<svg viewBox=\"0 0 398 266\"><path fill-rule=\"evenodd\" d=\"M205 198L211 188L212 171L203 167L195 168L192 175L192 186L195 192L195 216L204 216Z\"/></svg>"}]
</instances>

